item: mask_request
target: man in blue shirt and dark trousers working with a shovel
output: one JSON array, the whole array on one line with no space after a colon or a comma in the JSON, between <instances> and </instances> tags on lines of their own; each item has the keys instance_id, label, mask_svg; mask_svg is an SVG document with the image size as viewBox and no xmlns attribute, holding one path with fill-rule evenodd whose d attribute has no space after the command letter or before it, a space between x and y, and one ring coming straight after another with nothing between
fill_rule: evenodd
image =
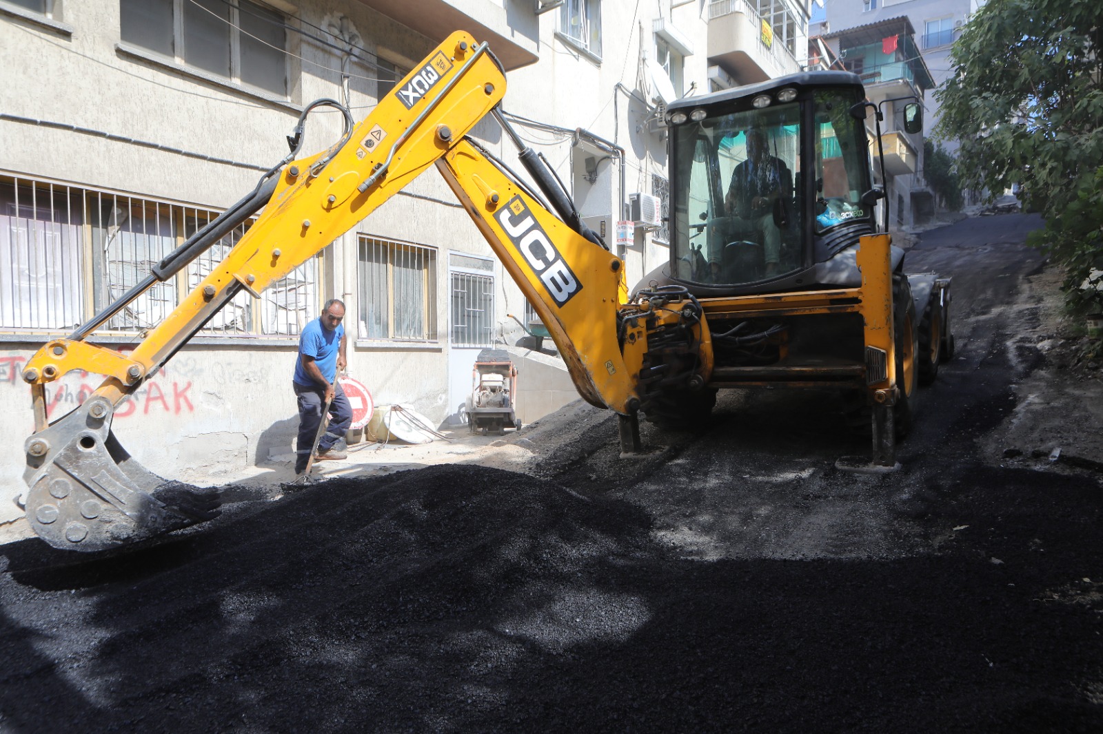
<instances>
[{"instance_id":1,"label":"man in blue shirt and dark trousers working with a shovel","mask_svg":"<svg viewBox=\"0 0 1103 734\"><path fill-rule=\"evenodd\" d=\"M295 360L295 395L299 401L299 442L295 473L307 471L314 446L322 411L329 403L330 424L318 442L314 461L347 458L345 432L352 424L352 406L336 380L345 368L344 303L330 299L322 315L307 324L299 334L299 354Z\"/></svg>"}]
</instances>

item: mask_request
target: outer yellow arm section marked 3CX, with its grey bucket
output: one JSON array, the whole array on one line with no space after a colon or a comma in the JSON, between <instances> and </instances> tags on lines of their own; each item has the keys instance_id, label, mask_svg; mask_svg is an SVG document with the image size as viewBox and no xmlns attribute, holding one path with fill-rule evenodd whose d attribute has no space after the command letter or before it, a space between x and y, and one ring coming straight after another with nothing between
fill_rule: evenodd
<instances>
[{"instance_id":1,"label":"outer yellow arm section marked 3CX, with its grey bucket","mask_svg":"<svg viewBox=\"0 0 1103 734\"><path fill-rule=\"evenodd\" d=\"M453 33L379 100L338 150L279 170L263 214L133 352L122 355L84 341L109 315L78 330L75 338L39 349L23 373L35 406L36 432L24 446L23 474L30 487L26 516L35 532L55 548L97 551L213 517L217 501L213 507L208 497L193 501L130 458L110 431L115 407L240 290L258 295L351 229L441 158L504 94L504 73L486 44ZM181 248L189 258L200 253L194 249L193 242ZM184 265L161 263L172 272ZM144 288L157 280L147 278ZM72 370L107 378L82 406L47 427L45 385Z\"/></svg>"}]
</instances>

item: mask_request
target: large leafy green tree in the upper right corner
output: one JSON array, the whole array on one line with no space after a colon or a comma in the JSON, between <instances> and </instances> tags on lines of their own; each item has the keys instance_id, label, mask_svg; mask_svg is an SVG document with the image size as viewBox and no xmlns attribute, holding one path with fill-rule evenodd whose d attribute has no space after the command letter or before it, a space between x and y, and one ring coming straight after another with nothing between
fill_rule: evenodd
<instances>
[{"instance_id":1,"label":"large leafy green tree in the upper right corner","mask_svg":"<svg viewBox=\"0 0 1103 734\"><path fill-rule=\"evenodd\" d=\"M951 57L936 134L960 141L961 183L1020 184L1046 218L1031 242L1065 266L1070 304L1089 307L1079 285L1103 265L1103 2L989 0Z\"/></svg>"}]
</instances>

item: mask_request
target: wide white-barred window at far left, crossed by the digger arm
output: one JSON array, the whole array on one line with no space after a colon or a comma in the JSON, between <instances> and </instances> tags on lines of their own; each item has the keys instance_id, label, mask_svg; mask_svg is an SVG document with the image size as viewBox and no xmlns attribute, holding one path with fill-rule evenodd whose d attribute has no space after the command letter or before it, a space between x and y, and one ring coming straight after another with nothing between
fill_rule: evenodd
<instances>
[{"instance_id":1,"label":"wide white-barred window at far left, crossed by the digger arm","mask_svg":"<svg viewBox=\"0 0 1103 734\"><path fill-rule=\"evenodd\" d=\"M138 284L216 211L0 175L0 328L67 331ZM156 283L113 317L108 332L157 326L205 278L248 224L175 278ZM205 335L293 335L318 310L312 258L254 302L239 294Z\"/></svg>"}]
</instances>

